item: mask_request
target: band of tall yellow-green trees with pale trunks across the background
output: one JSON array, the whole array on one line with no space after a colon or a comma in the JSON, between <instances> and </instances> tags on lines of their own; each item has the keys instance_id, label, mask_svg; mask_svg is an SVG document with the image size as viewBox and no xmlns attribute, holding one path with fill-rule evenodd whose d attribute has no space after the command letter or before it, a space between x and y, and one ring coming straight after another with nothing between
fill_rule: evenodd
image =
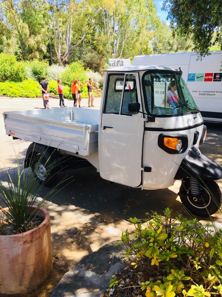
<instances>
[{"instance_id":1,"label":"band of tall yellow-green trees with pale trunks across the background","mask_svg":"<svg viewBox=\"0 0 222 297\"><path fill-rule=\"evenodd\" d=\"M81 60L97 71L111 57L185 47L184 40L174 42L153 0L0 0L0 52L18 60Z\"/></svg>"}]
</instances>

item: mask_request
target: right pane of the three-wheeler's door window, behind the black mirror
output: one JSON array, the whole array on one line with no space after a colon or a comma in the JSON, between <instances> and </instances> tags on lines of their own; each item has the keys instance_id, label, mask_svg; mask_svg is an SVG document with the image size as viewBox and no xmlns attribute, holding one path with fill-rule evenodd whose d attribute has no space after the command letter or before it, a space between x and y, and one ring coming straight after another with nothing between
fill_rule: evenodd
<instances>
[{"instance_id":1,"label":"right pane of the three-wheeler's door window, behind the black mirror","mask_svg":"<svg viewBox=\"0 0 222 297\"><path fill-rule=\"evenodd\" d=\"M128 74L126 75L126 80L125 80L121 114L132 115L132 113L128 111L128 105L129 103L132 103L132 102L138 102L136 75Z\"/></svg>"}]
</instances>

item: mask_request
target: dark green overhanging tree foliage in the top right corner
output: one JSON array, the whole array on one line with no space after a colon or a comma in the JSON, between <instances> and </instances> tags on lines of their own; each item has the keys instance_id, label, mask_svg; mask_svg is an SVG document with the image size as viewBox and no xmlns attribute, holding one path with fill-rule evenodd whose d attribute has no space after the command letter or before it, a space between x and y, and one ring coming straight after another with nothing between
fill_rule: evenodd
<instances>
[{"instance_id":1,"label":"dark green overhanging tree foliage in the top right corner","mask_svg":"<svg viewBox=\"0 0 222 297\"><path fill-rule=\"evenodd\" d=\"M192 41L192 50L201 56L217 42L221 45L222 3L218 0L164 0L173 36Z\"/></svg>"}]
</instances>

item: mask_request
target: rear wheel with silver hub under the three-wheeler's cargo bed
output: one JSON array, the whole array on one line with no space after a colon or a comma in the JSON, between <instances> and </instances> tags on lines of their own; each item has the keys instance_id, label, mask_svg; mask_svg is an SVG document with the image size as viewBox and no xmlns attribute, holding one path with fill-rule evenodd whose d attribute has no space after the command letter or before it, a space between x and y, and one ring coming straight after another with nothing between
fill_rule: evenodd
<instances>
[{"instance_id":1,"label":"rear wheel with silver hub under the three-wheeler's cargo bed","mask_svg":"<svg viewBox=\"0 0 222 297\"><path fill-rule=\"evenodd\" d=\"M44 186L52 186L55 184L57 173L53 170L53 163L50 158L46 160L44 156L41 157L38 154L34 158L31 168L39 184L44 184Z\"/></svg>"}]
</instances>

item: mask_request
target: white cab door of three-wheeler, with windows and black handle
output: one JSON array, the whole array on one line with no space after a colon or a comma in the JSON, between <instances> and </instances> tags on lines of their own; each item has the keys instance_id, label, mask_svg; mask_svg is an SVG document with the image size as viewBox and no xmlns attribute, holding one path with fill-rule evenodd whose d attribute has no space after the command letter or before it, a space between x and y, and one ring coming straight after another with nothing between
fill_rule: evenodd
<instances>
[{"instance_id":1,"label":"white cab door of three-wheeler, with windows and black handle","mask_svg":"<svg viewBox=\"0 0 222 297\"><path fill-rule=\"evenodd\" d=\"M108 73L99 137L102 178L131 187L141 185L144 121L128 104L139 102L138 73Z\"/></svg>"}]
</instances>

